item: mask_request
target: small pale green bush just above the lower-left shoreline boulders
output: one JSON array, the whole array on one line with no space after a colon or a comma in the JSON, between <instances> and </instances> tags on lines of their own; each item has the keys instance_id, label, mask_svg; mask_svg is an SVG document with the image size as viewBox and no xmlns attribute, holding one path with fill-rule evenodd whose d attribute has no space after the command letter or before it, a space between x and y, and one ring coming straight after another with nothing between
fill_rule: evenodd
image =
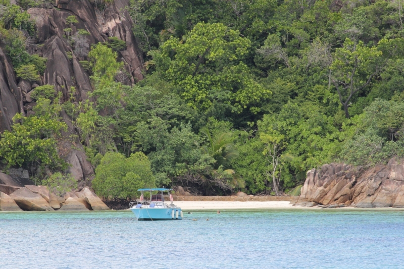
<instances>
[{"instance_id":1,"label":"small pale green bush just above the lower-left shoreline boulders","mask_svg":"<svg viewBox=\"0 0 404 269\"><path fill-rule=\"evenodd\" d=\"M44 180L42 184L48 186L49 191L62 196L66 192L77 188L77 181L70 174L55 173Z\"/></svg>"}]
</instances>

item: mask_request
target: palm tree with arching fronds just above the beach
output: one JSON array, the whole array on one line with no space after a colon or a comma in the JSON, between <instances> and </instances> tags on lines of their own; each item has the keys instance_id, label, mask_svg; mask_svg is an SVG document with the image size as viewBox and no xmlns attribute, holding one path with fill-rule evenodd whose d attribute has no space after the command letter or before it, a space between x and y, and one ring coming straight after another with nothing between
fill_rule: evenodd
<instances>
[{"instance_id":1,"label":"palm tree with arching fronds just above the beach","mask_svg":"<svg viewBox=\"0 0 404 269\"><path fill-rule=\"evenodd\" d=\"M231 161L238 156L233 143L227 142L231 134L228 132L220 132L216 136L212 137L207 128L200 129L200 132L206 135L209 140L209 146L200 147L204 154L208 154L215 159L213 165L213 175L219 178L219 168L225 169L222 171L224 175L228 175L230 180L227 182L232 187L245 187L244 180L236 174L233 169L229 169ZM201 175L203 178L209 177L208 175ZM217 182L222 183L222 182ZM220 184L219 184L220 185ZM222 186L226 187L226 186Z\"/></svg>"}]
</instances>

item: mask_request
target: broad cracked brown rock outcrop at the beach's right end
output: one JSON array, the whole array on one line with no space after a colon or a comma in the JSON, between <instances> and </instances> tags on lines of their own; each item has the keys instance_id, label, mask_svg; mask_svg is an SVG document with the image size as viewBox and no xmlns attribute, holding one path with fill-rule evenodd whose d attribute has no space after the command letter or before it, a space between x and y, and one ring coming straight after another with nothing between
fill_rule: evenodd
<instances>
[{"instance_id":1,"label":"broad cracked brown rock outcrop at the beach's right end","mask_svg":"<svg viewBox=\"0 0 404 269\"><path fill-rule=\"evenodd\" d=\"M404 207L404 165L392 158L370 170L344 164L324 165L307 173L298 202L328 207Z\"/></svg>"}]
</instances>

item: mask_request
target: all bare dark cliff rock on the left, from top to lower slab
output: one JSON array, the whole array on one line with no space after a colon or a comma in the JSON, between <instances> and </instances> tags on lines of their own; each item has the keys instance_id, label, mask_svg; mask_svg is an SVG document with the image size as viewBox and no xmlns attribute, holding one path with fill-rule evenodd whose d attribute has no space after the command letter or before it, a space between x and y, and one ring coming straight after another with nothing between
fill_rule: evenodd
<instances>
[{"instance_id":1,"label":"all bare dark cliff rock on the left, from top to lower slab","mask_svg":"<svg viewBox=\"0 0 404 269\"><path fill-rule=\"evenodd\" d=\"M92 91L89 72L82 66L87 56L76 55L71 42L66 38L65 29L71 34L79 29L88 31L85 36L88 45L106 42L109 37L117 37L125 41L126 48L118 52L119 61L123 61L127 74L121 82L133 85L143 78L143 59L132 33L132 19L125 7L128 0L116 0L107 4L102 11L97 10L88 0L71 1L56 0L54 4L43 4L41 8L31 8L27 13L35 21L37 33L29 46L31 53L47 58L46 69L39 82L30 83L18 80L10 59L0 49L0 133L11 130L12 119L17 113L30 115L36 104L30 97L31 91L38 84L54 85L63 93L63 100L69 99L69 91L75 88L75 101L88 99ZM68 23L69 16L74 15L78 23ZM119 78L118 78L119 79ZM79 189L87 185L93 177L91 164L86 160L80 141L70 141L68 137L75 133L68 115L62 112L62 118L68 125L68 132L63 134L64 157L71 165L70 173L79 182ZM74 149L73 149L74 148Z\"/></svg>"}]
</instances>

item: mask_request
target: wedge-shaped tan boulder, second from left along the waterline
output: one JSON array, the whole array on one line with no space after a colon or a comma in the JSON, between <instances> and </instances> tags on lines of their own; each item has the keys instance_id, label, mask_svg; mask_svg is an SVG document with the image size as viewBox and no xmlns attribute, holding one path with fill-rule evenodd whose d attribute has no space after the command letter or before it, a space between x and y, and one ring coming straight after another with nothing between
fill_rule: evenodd
<instances>
[{"instance_id":1,"label":"wedge-shaped tan boulder, second from left along the waterline","mask_svg":"<svg viewBox=\"0 0 404 269\"><path fill-rule=\"evenodd\" d=\"M18 206L26 211L54 211L41 195L33 193L28 188L20 188L10 194Z\"/></svg>"}]
</instances>

